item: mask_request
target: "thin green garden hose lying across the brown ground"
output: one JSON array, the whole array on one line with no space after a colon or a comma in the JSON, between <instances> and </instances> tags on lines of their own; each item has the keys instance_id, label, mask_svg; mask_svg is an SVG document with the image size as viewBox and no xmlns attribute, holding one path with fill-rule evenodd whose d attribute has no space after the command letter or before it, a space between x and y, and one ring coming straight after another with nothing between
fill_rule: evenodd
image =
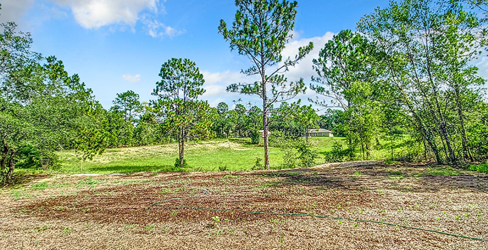
<instances>
[{"instance_id":1,"label":"thin green garden hose lying across the brown ground","mask_svg":"<svg viewBox=\"0 0 488 250\"><path fill-rule=\"evenodd\" d=\"M195 188L203 189L203 190L205 190L205 193L203 195L194 195L194 196L188 196L188 197L183 197L183 198L171 198L171 199L167 199L167 200L163 200L163 201L158 201L158 202L153 203L152 206L167 207L167 208L184 208L184 209L194 209L194 210L207 210L207 211L229 212L229 213L251 213L251 214L269 214L269 215L286 215L286 216L309 216L309 217L315 217L315 218L333 219L333 220L341 220L341 221L369 222L369 223L376 223L376 224L394 226L394 227L399 227L399 228L404 228L404 229L414 229L414 230L422 230L422 231L427 231L427 232L440 233L440 234L445 234L445 235L449 235L449 236L460 237L460 238L465 238L465 239L470 239L470 240L488 241L487 239L483 239L483 238L474 238L474 237L469 237L469 236L460 235L460 234L448 233L448 232L431 230L431 229L415 228L415 227L409 227L409 226L398 225L398 224L387 223L387 222L381 222L381 221L339 218L339 217L333 217L333 216L315 215L315 214L307 214L307 213L257 212L257 211L244 211L244 210L226 210L226 209L218 209L218 208L173 206L173 205L163 204L163 203L175 201L175 200L185 200L185 199L199 198L199 197L207 196L208 189L203 188L203 187L195 187Z\"/></svg>"}]
</instances>

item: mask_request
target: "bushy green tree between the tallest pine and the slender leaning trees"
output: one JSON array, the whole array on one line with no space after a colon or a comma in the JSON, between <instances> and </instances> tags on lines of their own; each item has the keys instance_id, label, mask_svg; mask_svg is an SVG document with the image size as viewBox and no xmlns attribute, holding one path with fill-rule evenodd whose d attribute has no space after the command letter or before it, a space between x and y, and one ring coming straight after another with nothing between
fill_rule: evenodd
<instances>
[{"instance_id":1,"label":"bushy green tree between the tallest pine and the slender leaning trees","mask_svg":"<svg viewBox=\"0 0 488 250\"><path fill-rule=\"evenodd\" d=\"M310 87L318 94L331 100L325 122L339 124L343 135L348 138L349 147L361 148L363 160L369 158L373 138L378 136L382 113L378 79L381 67L377 60L377 47L366 37L350 30L343 30L327 42L314 59L314 68L319 75L312 80L318 85ZM315 104L329 107L328 103Z\"/></svg>"}]
</instances>

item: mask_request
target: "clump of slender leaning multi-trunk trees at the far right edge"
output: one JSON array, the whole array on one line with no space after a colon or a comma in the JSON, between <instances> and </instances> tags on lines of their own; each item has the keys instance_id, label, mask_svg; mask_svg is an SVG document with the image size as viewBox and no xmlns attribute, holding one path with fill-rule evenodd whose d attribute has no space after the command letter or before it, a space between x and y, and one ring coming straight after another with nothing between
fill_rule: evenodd
<instances>
[{"instance_id":1,"label":"clump of slender leaning multi-trunk trees at the far right edge","mask_svg":"<svg viewBox=\"0 0 488 250\"><path fill-rule=\"evenodd\" d=\"M467 118L479 112L475 106L482 102L479 86L485 80L471 62L485 49L486 21L460 1L404 0L358 24L381 51L377 60L385 71L377 100L407 118L437 163L474 158Z\"/></svg>"}]
</instances>

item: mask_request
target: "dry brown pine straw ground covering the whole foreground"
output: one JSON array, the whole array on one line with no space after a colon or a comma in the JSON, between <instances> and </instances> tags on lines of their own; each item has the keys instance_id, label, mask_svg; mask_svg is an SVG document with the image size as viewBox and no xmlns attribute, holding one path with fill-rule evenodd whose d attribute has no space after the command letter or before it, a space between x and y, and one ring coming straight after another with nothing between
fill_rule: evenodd
<instances>
[{"instance_id":1,"label":"dry brown pine straw ground covering the whole foreground","mask_svg":"<svg viewBox=\"0 0 488 250\"><path fill-rule=\"evenodd\" d=\"M488 242L294 212L488 238L488 175L375 162L309 169L55 176L0 193L0 249L488 249ZM37 188L37 189L34 189Z\"/></svg>"}]
</instances>

